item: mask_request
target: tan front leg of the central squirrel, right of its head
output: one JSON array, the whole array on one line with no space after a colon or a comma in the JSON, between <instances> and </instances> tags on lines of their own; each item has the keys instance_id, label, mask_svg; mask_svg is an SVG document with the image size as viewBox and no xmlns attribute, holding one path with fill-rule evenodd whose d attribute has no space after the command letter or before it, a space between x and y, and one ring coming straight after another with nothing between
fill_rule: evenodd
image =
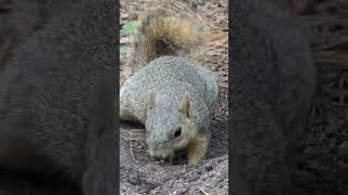
<instances>
[{"instance_id":1,"label":"tan front leg of the central squirrel, right of its head","mask_svg":"<svg viewBox=\"0 0 348 195\"><path fill-rule=\"evenodd\" d=\"M196 165L202 160L208 152L210 135L208 132L200 132L187 145L187 159L189 165Z\"/></svg>"}]
</instances>

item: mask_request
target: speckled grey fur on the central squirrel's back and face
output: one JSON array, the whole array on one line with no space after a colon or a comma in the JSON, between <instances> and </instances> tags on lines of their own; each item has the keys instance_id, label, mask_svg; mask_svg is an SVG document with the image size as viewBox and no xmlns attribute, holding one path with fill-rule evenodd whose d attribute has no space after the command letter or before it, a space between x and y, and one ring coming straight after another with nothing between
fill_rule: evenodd
<instances>
[{"instance_id":1,"label":"speckled grey fur on the central squirrel's back and face","mask_svg":"<svg viewBox=\"0 0 348 195\"><path fill-rule=\"evenodd\" d=\"M171 142L179 127L178 108L186 94L190 95L191 120L198 133L208 133L217 90L216 77L209 70L182 57L162 56L124 82L120 90L120 112L121 116L126 113L132 120L146 125L150 146L160 145ZM156 106L148 113L151 92L156 93Z\"/></svg>"}]
</instances>

